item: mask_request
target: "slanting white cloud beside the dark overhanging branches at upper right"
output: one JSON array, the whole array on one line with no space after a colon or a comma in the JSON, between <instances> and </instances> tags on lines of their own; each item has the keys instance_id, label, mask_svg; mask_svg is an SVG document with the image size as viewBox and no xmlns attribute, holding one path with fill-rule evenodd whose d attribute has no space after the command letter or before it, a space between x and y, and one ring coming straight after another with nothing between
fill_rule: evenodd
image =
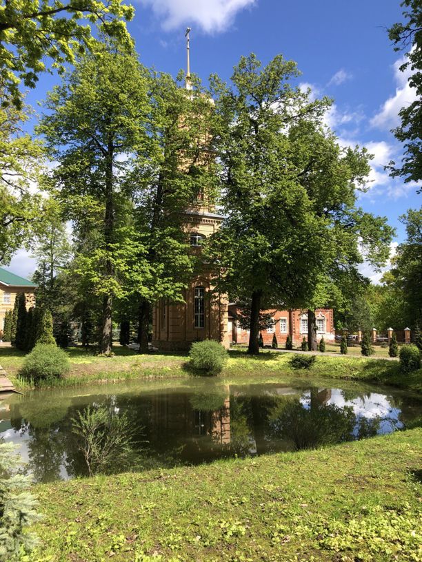
<instances>
[{"instance_id":1,"label":"slanting white cloud beside the dark overhanging branches at upper right","mask_svg":"<svg viewBox=\"0 0 422 562\"><path fill-rule=\"evenodd\" d=\"M394 65L394 79L396 81L396 93L386 100L379 112L372 117L370 124L379 129L392 129L400 124L399 111L402 107L410 105L416 99L416 92L408 83L410 70L401 72L400 66L405 62L405 57L398 59Z\"/></svg>"}]
</instances>

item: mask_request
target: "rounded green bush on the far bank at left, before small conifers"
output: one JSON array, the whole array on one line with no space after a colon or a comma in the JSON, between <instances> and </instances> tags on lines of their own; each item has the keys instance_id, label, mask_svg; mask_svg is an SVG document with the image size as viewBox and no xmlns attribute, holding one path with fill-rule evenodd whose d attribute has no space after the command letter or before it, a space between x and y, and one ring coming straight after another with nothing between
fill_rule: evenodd
<instances>
[{"instance_id":1,"label":"rounded green bush on the far bank at left, before small conifers","mask_svg":"<svg viewBox=\"0 0 422 562\"><path fill-rule=\"evenodd\" d=\"M66 351L56 345L37 344L25 357L19 374L37 384L41 380L63 377L69 369L70 363Z\"/></svg>"}]
</instances>

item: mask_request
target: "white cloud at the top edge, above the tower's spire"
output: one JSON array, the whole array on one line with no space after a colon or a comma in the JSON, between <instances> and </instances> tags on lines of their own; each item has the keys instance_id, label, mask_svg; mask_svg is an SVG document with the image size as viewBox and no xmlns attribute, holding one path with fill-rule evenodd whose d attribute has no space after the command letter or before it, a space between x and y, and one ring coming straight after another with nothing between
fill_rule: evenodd
<instances>
[{"instance_id":1,"label":"white cloud at the top edge, above the tower's spire","mask_svg":"<svg viewBox=\"0 0 422 562\"><path fill-rule=\"evenodd\" d=\"M161 20L166 30L199 25L206 33L225 31L237 13L252 8L256 0L141 0Z\"/></svg>"}]
</instances>

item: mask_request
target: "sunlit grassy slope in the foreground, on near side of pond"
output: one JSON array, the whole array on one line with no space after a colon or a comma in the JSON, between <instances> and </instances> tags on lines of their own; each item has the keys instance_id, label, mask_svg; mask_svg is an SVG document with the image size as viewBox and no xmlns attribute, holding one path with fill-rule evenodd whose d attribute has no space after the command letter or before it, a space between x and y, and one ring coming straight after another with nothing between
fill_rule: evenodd
<instances>
[{"instance_id":1,"label":"sunlit grassy slope in the foreground, on near side of pond","mask_svg":"<svg viewBox=\"0 0 422 562\"><path fill-rule=\"evenodd\" d=\"M34 562L418 561L422 430L37 486Z\"/></svg>"}]
</instances>

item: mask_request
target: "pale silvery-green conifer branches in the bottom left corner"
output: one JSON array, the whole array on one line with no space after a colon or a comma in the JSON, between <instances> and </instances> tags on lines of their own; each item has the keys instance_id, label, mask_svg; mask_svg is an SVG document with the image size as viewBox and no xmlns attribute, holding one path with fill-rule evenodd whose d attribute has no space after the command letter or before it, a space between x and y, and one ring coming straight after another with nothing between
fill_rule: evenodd
<instances>
[{"instance_id":1,"label":"pale silvery-green conifer branches in the bottom left corner","mask_svg":"<svg viewBox=\"0 0 422 562\"><path fill-rule=\"evenodd\" d=\"M22 560L21 555L37 544L28 528L40 519L38 501L29 492L31 479L21 474L16 449L12 443L0 443L0 560L10 562Z\"/></svg>"}]
</instances>

